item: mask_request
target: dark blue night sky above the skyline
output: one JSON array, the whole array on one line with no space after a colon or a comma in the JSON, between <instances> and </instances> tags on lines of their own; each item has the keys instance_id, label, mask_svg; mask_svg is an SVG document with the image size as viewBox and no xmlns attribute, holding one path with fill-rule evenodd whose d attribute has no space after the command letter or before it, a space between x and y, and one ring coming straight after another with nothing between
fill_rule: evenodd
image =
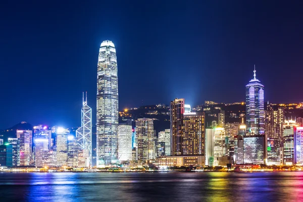
<instances>
[{"instance_id":1,"label":"dark blue night sky above the skyline","mask_svg":"<svg viewBox=\"0 0 303 202\"><path fill-rule=\"evenodd\" d=\"M243 101L254 64L266 100L301 102L302 3L291 2L3 1L0 128L78 126L82 91L95 122L107 39L117 49L120 109L175 97Z\"/></svg>"}]
</instances>

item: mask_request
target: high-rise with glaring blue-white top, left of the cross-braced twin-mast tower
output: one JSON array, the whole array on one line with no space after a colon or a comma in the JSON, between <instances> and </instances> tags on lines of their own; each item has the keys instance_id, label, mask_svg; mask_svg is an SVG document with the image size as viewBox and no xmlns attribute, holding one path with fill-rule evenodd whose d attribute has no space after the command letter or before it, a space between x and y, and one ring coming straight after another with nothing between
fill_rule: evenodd
<instances>
[{"instance_id":1,"label":"high-rise with glaring blue-white top, left of the cross-braced twin-mast tower","mask_svg":"<svg viewBox=\"0 0 303 202\"><path fill-rule=\"evenodd\" d=\"M57 165L67 166L67 137L70 131L62 127L57 129Z\"/></svg>"}]
</instances>

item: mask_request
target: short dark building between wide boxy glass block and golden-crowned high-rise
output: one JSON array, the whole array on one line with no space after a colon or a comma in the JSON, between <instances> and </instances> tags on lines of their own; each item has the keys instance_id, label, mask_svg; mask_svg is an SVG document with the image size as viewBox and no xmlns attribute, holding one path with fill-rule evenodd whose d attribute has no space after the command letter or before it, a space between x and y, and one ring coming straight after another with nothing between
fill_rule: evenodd
<instances>
[{"instance_id":1,"label":"short dark building between wide boxy glass block and golden-crowned high-rise","mask_svg":"<svg viewBox=\"0 0 303 202\"><path fill-rule=\"evenodd\" d=\"M281 165L280 140L278 138L267 139L267 165Z\"/></svg>"}]
</instances>

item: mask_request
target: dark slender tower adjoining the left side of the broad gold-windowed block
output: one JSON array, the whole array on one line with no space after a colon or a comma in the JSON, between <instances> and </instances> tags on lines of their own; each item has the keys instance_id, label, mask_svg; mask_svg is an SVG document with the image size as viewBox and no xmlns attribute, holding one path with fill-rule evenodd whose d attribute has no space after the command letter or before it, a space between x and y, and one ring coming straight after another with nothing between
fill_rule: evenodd
<instances>
[{"instance_id":1,"label":"dark slender tower adjoining the left side of the broad gold-windowed block","mask_svg":"<svg viewBox=\"0 0 303 202\"><path fill-rule=\"evenodd\" d=\"M184 155L183 146L184 99L171 102L171 155Z\"/></svg>"}]
</instances>

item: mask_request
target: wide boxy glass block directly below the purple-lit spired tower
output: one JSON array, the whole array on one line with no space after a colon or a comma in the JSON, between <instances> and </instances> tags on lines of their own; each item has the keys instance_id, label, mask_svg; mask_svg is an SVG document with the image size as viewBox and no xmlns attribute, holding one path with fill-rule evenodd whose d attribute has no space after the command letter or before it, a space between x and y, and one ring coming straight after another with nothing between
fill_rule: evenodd
<instances>
[{"instance_id":1,"label":"wide boxy glass block directly below the purple-lit spired tower","mask_svg":"<svg viewBox=\"0 0 303 202\"><path fill-rule=\"evenodd\" d=\"M266 145L264 143L264 135L244 136L244 164L265 164Z\"/></svg>"}]
</instances>

